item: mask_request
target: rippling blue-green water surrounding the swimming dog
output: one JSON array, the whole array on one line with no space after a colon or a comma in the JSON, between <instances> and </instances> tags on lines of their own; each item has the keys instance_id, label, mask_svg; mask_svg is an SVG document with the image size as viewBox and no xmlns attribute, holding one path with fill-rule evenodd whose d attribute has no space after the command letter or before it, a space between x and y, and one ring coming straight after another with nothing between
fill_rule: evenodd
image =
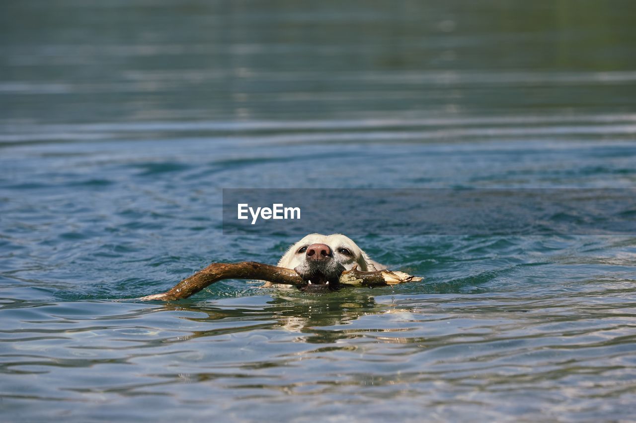
<instances>
[{"instance_id":1,"label":"rippling blue-green water surrounding the swimming dog","mask_svg":"<svg viewBox=\"0 0 636 423\"><path fill-rule=\"evenodd\" d=\"M223 187L634 187L635 3L0 8L2 420L633 419L633 237L359 236L425 281L133 299L296 241L223 236Z\"/></svg>"}]
</instances>

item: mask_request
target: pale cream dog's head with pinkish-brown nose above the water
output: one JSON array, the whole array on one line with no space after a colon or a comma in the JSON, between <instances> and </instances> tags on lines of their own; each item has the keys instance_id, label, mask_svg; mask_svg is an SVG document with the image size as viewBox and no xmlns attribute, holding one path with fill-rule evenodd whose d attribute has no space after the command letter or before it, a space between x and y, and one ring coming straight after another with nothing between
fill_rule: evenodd
<instances>
[{"instance_id":1,"label":"pale cream dog's head with pinkish-brown nose above the water","mask_svg":"<svg viewBox=\"0 0 636 423\"><path fill-rule=\"evenodd\" d=\"M371 260L350 238L343 234L309 234L280 257L278 267L294 269L308 281L305 292L333 291L338 289L340 274L354 265L360 271L378 271L387 267ZM264 286L277 284L266 283ZM289 285L277 285L289 287Z\"/></svg>"}]
</instances>

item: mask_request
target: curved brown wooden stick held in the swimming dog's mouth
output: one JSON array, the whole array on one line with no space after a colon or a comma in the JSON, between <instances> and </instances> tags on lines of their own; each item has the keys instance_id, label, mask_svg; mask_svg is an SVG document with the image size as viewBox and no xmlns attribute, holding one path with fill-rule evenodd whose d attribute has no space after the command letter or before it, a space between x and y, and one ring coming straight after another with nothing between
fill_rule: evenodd
<instances>
[{"instance_id":1,"label":"curved brown wooden stick held in the swimming dog's mouth","mask_svg":"<svg viewBox=\"0 0 636 423\"><path fill-rule=\"evenodd\" d=\"M284 285L294 285L300 289L307 287L308 282L304 281L293 269L285 269L257 262L240 263L212 263L202 271L198 271L192 276L177 283L171 290L163 293L147 295L139 300L179 300L190 297L206 286L223 279L259 279L272 283L282 283ZM394 285L396 283L417 282L422 278L411 276L404 272L392 272L388 270L375 272L362 272L354 266L349 271L340 275L340 285L342 286L375 286Z\"/></svg>"}]
</instances>

